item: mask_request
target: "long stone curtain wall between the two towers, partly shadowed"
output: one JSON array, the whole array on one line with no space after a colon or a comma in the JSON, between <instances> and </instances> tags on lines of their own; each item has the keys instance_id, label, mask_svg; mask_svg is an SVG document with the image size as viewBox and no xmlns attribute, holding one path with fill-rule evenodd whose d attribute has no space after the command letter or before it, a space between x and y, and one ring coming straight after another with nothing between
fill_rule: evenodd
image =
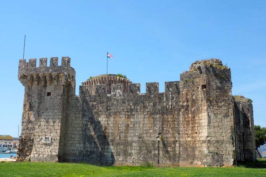
<instances>
[{"instance_id":1,"label":"long stone curtain wall between the two towers, partly shadowed","mask_svg":"<svg viewBox=\"0 0 266 177\"><path fill-rule=\"evenodd\" d=\"M151 90L153 85L147 83ZM80 96L73 100L84 109L69 110L73 114L67 124L77 124L66 126L64 160L105 165L179 163L179 108L170 107L164 93L97 96L88 90L80 86Z\"/></svg>"}]
</instances>

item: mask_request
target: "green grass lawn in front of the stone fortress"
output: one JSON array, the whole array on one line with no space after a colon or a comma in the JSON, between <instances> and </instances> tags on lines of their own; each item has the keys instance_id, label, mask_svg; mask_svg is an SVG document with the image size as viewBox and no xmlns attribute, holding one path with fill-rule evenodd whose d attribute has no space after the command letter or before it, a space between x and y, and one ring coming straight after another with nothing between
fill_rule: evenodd
<instances>
[{"instance_id":1,"label":"green grass lawn in front of the stone fortress","mask_svg":"<svg viewBox=\"0 0 266 177\"><path fill-rule=\"evenodd\" d=\"M230 177L265 177L266 168L256 166L238 166L233 168L194 168L165 167L150 168L141 166L100 167L86 163L48 163L15 162L0 163L0 177L173 177L173 176L230 176Z\"/></svg>"}]
</instances>

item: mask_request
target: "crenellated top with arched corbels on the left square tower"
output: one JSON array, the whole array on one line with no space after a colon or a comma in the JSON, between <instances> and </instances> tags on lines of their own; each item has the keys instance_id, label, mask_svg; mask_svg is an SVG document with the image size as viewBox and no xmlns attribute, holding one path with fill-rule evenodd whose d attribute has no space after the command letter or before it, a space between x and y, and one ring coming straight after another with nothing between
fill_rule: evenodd
<instances>
[{"instance_id":1,"label":"crenellated top with arched corbels on the left square tower","mask_svg":"<svg viewBox=\"0 0 266 177\"><path fill-rule=\"evenodd\" d=\"M29 62L26 62L26 59L19 60L18 80L23 86L27 84L31 86L33 81L35 81L37 85L40 84L40 82L44 85L46 81L51 84L53 80L57 85L58 80L61 80L61 84L64 85L68 81L75 80L76 72L74 68L70 66L69 57L61 58L61 66L58 65L58 57L50 58L50 66L47 66L47 58L39 59L39 67L36 67L36 63L36 58L30 58ZM59 77L61 77L61 79L59 79Z\"/></svg>"}]
</instances>

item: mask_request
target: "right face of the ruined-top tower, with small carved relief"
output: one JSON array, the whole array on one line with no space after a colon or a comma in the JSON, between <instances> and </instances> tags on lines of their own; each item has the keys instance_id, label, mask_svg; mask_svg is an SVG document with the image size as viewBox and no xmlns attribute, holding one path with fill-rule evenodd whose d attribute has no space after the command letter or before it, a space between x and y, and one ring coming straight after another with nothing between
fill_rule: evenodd
<instances>
[{"instance_id":1,"label":"right face of the ruined-top tower, with small carved relief","mask_svg":"<svg viewBox=\"0 0 266 177\"><path fill-rule=\"evenodd\" d=\"M211 165L234 165L235 132L230 68L206 65L207 75L207 161Z\"/></svg>"}]
</instances>

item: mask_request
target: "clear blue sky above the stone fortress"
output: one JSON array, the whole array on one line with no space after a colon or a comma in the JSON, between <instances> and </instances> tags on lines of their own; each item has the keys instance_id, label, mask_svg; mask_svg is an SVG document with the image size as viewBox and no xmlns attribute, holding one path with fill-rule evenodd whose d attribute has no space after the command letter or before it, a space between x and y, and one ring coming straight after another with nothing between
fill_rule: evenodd
<instances>
[{"instance_id":1,"label":"clear blue sky above the stone fortress","mask_svg":"<svg viewBox=\"0 0 266 177\"><path fill-rule=\"evenodd\" d=\"M231 68L233 95L253 100L266 127L266 1L1 1L0 135L17 137L24 87L19 59L71 58L76 94L90 76L121 73L141 84L179 81L196 60Z\"/></svg>"}]
</instances>

